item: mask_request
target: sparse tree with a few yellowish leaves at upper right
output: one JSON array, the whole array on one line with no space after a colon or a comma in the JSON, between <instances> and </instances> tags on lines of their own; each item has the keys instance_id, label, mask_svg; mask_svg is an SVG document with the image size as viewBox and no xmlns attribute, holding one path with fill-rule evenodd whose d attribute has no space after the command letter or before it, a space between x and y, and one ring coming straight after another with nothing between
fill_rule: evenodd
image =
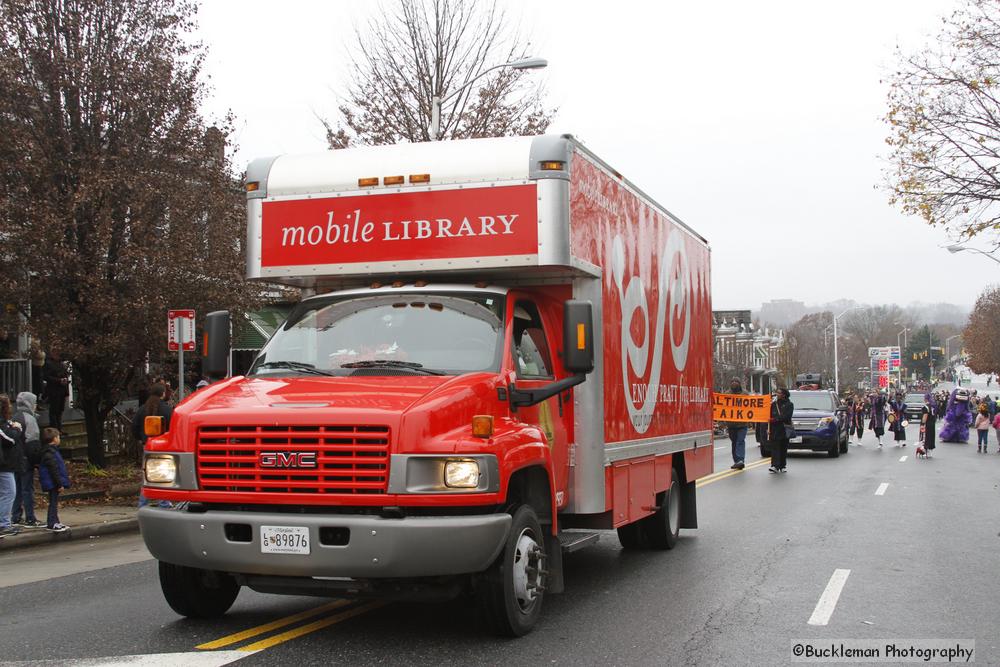
<instances>
[{"instance_id":1,"label":"sparse tree with a few yellowish leaves at upper right","mask_svg":"<svg viewBox=\"0 0 1000 667\"><path fill-rule=\"evenodd\" d=\"M889 77L891 201L959 237L1000 228L1000 4L966 0ZM995 235L994 235L995 238Z\"/></svg>"}]
</instances>

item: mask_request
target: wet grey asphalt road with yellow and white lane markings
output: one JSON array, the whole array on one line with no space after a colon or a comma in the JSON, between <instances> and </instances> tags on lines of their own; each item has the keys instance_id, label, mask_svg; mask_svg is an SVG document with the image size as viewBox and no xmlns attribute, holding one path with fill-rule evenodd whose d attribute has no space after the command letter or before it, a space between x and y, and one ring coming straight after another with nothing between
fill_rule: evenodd
<instances>
[{"instance_id":1,"label":"wet grey asphalt road with yellow and white lane markings","mask_svg":"<svg viewBox=\"0 0 1000 667\"><path fill-rule=\"evenodd\" d=\"M699 490L698 530L662 553L622 551L603 533L566 558L566 592L518 640L485 634L461 602L244 590L224 619L181 619L133 536L0 556L0 660L765 665L789 662L797 639L953 638L975 640L979 664L1000 664L992 433L990 454L941 444L930 460L868 436L839 459L793 453L783 475L757 465L756 448L747 470L728 474L728 442L716 447L720 474ZM823 607L827 624L810 625L838 570L849 573Z\"/></svg>"}]
</instances>

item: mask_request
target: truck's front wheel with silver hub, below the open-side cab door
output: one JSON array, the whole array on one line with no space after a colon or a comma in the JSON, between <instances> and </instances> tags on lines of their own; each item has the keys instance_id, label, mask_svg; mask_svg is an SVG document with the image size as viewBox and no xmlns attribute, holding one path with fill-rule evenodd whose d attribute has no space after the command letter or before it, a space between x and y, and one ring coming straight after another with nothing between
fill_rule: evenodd
<instances>
[{"instance_id":1,"label":"truck's front wheel with silver hub, below the open-side cab door","mask_svg":"<svg viewBox=\"0 0 1000 667\"><path fill-rule=\"evenodd\" d=\"M483 578L479 605L491 630L521 637L534 629L542 613L547 555L535 511L521 505L511 517L504 550Z\"/></svg>"}]
</instances>

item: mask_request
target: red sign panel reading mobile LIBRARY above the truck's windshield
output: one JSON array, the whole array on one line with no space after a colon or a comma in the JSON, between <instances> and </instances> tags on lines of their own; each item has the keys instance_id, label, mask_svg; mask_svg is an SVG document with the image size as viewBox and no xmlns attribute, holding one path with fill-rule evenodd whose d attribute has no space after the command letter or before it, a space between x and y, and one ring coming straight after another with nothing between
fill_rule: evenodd
<instances>
[{"instance_id":1,"label":"red sign panel reading mobile LIBRARY above the truck's windshield","mask_svg":"<svg viewBox=\"0 0 1000 667\"><path fill-rule=\"evenodd\" d=\"M534 184L262 205L263 268L537 253Z\"/></svg>"}]
</instances>

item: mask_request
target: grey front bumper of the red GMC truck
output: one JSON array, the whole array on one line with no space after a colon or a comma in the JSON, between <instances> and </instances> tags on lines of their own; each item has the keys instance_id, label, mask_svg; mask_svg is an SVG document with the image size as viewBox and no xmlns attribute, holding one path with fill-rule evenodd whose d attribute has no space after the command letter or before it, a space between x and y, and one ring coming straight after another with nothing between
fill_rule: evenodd
<instances>
[{"instance_id":1,"label":"grey front bumper of the red GMC truck","mask_svg":"<svg viewBox=\"0 0 1000 667\"><path fill-rule=\"evenodd\" d=\"M509 514L386 519L341 514L208 511L142 507L139 528L157 560L239 574L290 577L410 578L482 572L510 530ZM233 541L232 526L243 539ZM249 526L249 531L245 528ZM308 554L262 553L261 526L309 530ZM346 544L320 543L332 528Z\"/></svg>"}]
</instances>

